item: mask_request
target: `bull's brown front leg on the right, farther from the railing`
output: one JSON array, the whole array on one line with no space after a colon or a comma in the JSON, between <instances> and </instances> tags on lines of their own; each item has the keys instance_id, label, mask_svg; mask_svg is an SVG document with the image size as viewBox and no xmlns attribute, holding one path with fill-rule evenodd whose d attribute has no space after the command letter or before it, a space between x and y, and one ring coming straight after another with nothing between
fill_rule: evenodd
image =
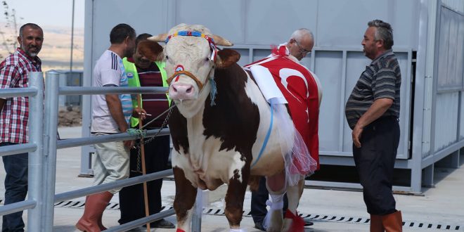
<instances>
[{"instance_id":1,"label":"bull's brown front leg on the right, farther from the railing","mask_svg":"<svg viewBox=\"0 0 464 232\"><path fill-rule=\"evenodd\" d=\"M250 166L245 165L241 172L238 169L233 171L233 176L228 181L226 193L226 217L231 227L231 232L240 230L240 221L243 216L243 200L247 190L248 179L250 178Z\"/></svg>"}]
</instances>

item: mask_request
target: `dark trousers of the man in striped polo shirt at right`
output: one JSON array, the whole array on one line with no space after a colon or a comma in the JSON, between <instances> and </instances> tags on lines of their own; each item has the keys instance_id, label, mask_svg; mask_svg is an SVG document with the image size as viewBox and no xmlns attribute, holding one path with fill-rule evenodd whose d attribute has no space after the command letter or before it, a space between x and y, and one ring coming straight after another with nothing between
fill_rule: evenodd
<instances>
[{"instance_id":1,"label":"dark trousers of the man in striped polo shirt at right","mask_svg":"<svg viewBox=\"0 0 464 232\"><path fill-rule=\"evenodd\" d=\"M375 120L363 129L360 141L361 148L353 145L353 156L367 211L376 215L394 213L392 179L399 144L397 118Z\"/></svg>"}]
</instances>

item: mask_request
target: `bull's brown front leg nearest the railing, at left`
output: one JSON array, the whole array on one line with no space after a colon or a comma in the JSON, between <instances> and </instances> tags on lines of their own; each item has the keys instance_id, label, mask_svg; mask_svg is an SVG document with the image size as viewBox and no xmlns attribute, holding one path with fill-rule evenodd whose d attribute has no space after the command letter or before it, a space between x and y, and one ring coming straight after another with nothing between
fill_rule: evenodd
<instances>
[{"instance_id":1,"label":"bull's brown front leg nearest the railing, at left","mask_svg":"<svg viewBox=\"0 0 464 232\"><path fill-rule=\"evenodd\" d=\"M174 210L177 217L177 232L191 231L193 205L197 195L191 181L186 179L185 173L179 167L174 167L174 180L176 182L176 197L174 198Z\"/></svg>"}]
</instances>

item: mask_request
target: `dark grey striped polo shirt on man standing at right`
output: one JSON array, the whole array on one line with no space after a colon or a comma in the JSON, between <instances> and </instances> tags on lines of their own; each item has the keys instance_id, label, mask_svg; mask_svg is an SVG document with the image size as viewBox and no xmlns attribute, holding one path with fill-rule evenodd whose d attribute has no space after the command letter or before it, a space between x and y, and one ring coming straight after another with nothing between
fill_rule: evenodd
<instances>
[{"instance_id":1,"label":"dark grey striped polo shirt on man standing at right","mask_svg":"<svg viewBox=\"0 0 464 232\"><path fill-rule=\"evenodd\" d=\"M397 56L392 50L375 58L359 77L349 96L344 112L351 129L359 118L379 98L391 98L393 105L381 116L399 117L399 90L401 72Z\"/></svg>"}]
</instances>

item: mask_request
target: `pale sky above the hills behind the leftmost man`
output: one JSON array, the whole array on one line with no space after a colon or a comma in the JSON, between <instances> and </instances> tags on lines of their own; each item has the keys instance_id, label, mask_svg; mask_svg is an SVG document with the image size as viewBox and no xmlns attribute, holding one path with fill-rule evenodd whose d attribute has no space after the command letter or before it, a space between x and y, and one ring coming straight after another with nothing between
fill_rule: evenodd
<instances>
[{"instance_id":1,"label":"pale sky above the hills behind the leftmost man","mask_svg":"<svg viewBox=\"0 0 464 232\"><path fill-rule=\"evenodd\" d=\"M1 0L6 1L9 8L14 8L18 26L34 22L41 27L71 27L72 0ZM75 28L84 27L84 1L75 0ZM1 4L0 22L5 22L4 6ZM23 19L20 19L23 18Z\"/></svg>"}]
</instances>

